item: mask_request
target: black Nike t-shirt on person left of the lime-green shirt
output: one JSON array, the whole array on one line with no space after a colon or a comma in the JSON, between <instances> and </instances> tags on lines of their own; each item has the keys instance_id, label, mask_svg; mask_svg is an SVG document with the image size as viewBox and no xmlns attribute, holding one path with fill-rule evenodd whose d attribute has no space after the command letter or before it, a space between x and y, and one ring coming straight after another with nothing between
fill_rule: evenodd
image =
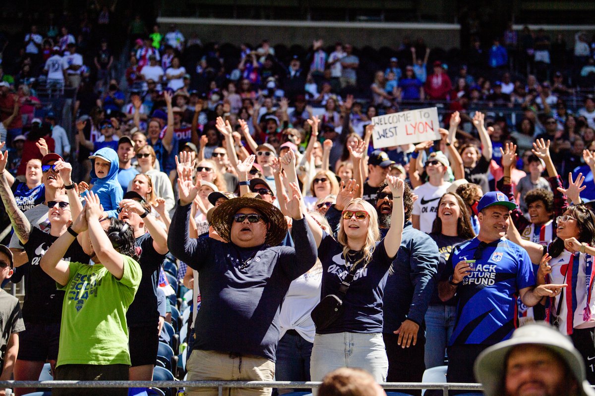
<instances>
[{"instance_id":1,"label":"black Nike t-shirt on person left of the lime-green shirt","mask_svg":"<svg viewBox=\"0 0 595 396\"><path fill-rule=\"evenodd\" d=\"M56 281L40 267L42 256L49 246L57 240L57 236L46 234L32 227L29 240L23 246L29 262L21 265L19 270L25 275L25 300L23 303L23 319L32 323L60 323L62 319L62 300L64 291L56 289ZM89 263L83 248L75 239L62 258L64 261Z\"/></svg>"}]
</instances>

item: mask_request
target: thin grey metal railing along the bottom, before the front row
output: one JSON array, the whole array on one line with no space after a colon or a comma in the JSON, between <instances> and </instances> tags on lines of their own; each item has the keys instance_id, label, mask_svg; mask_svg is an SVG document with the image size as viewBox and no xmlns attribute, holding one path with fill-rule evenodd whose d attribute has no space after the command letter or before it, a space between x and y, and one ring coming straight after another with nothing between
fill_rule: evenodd
<instances>
[{"instance_id":1,"label":"thin grey metal railing along the bottom, before the front row","mask_svg":"<svg viewBox=\"0 0 595 396\"><path fill-rule=\"evenodd\" d=\"M297 381L0 381L4 388L217 388L218 396L223 396L223 388L318 388L322 382ZM429 382L384 382L384 389L438 389L443 396L449 390L481 392L481 384L429 383Z\"/></svg>"}]
</instances>

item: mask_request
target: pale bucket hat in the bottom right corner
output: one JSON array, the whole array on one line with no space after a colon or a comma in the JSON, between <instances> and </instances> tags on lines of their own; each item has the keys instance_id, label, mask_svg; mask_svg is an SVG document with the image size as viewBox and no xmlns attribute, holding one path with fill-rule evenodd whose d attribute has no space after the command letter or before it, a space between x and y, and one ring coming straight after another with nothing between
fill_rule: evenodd
<instances>
[{"instance_id":1,"label":"pale bucket hat in the bottom right corner","mask_svg":"<svg viewBox=\"0 0 595 396\"><path fill-rule=\"evenodd\" d=\"M506 360L511 350L520 345L542 346L561 359L577 379L581 396L593 396L595 391L586 380L583 357L571 339L547 324L528 324L519 327L509 340L502 341L480 353L475 360L475 376L483 384L486 396L505 394Z\"/></svg>"}]
</instances>

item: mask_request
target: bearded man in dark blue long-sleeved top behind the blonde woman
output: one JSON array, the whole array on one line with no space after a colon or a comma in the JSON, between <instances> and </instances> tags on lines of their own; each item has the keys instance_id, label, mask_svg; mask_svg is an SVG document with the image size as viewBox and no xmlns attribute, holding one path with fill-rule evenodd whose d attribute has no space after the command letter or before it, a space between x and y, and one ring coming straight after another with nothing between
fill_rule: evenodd
<instances>
[{"instance_id":1,"label":"bearded man in dark blue long-sleeved top behind the blonde woman","mask_svg":"<svg viewBox=\"0 0 595 396\"><path fill-rule=\"evenodd\" d=\"M378 225L384 236L393 211L393 195L387 183L380 185L376 198ZM436 242L411 224L413 198L406 183L403 210L401 246L384 287L382 335L389 358L387 382L421 382L425 370L424 316L436 285L440 255ZM421 395L421 390L409 393Z\"/></svg>"}]
</instances>

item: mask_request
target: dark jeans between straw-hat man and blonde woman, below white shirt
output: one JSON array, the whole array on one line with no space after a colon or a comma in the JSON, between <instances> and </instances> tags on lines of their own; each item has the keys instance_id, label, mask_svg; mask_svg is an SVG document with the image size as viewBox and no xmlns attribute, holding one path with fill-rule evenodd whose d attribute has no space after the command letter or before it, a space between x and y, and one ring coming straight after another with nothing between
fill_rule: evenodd
<instances>
[{"instance_id":1,"label":"dark jeans between straw-hat man and blonde woman, below white shirt","mask_svg":"<svg viewBox=\"0 0 595 396\"><path fill-rule=\"evenodd\" d=\"M286 332L277 345L275 381L310 381L310 356L313 345L297 332ZM279 394L289 391L291 389L279 389Z\"/></svg>"}]
</instances>

